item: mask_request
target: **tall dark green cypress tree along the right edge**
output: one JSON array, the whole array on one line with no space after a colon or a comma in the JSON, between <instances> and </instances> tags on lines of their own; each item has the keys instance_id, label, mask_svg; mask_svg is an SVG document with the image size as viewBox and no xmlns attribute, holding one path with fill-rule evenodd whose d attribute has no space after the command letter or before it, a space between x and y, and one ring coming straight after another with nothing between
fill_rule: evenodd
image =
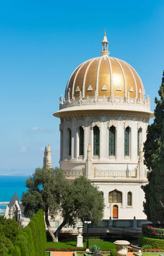
<instances>
[{"instance_id":1,"label":"tall dark green cypress tree along the right edge","mask_svg":"<svg viewBox=\"0 0 164 256\"><path fill-rule=\"evenodd\" d=\"M155 98L155 119L147 129L144 143L144 163L151 170L147 178L149 183L141 186L145 193L144 212L154 226L164 227L164 72L160 99Z\"/></svg>"}]
</instances>

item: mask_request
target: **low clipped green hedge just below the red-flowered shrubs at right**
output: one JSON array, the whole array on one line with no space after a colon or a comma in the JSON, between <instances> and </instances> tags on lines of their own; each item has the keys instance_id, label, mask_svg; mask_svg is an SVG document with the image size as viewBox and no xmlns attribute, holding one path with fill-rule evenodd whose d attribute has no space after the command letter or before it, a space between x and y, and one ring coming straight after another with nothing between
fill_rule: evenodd
<instances>
[{"instance_id":1,"label":"low clipped green hedge just below the red-flowered shrubs at right","mask_svg":"<svg viewBox=\"0 0 164 256\"><path fill-rule=\"evenodd\" d=\"M142 247L144 244L151 245L152 248L164 249L164 240L154 239L154 238L149 238L149 237L144 237L142 235L139 235L139 247Z\"/></svg>"}]
</instances>

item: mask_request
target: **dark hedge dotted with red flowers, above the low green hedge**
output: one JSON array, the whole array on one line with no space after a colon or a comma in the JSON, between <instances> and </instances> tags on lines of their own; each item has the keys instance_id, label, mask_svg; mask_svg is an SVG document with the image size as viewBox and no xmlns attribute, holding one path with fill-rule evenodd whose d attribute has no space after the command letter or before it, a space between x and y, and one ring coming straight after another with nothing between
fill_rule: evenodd
<instances>
[{"instance_id":1,"label":"dark hedge dotted with red flowers, above the low green hedge","mask_svg":"<svg viewBox=\"0 0 164 256\"><path fill-rule=\"evenodd\" d=\"M143 224L142 234L149 238L164 239L164 229L160 227L153 227L152 224Z\"/></svg>"}]
</instances>

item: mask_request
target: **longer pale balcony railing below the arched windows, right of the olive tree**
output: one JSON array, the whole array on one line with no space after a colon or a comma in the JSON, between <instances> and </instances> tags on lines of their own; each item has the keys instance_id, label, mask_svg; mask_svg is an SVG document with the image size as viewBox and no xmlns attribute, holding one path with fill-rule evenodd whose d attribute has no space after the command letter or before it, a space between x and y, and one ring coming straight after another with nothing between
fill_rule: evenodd
<instances>
[{"instance_id":1,"label":"longer pale balcony railing below the arched windows, right of the olive tree","mask_svg":"<svg viewBox=\"0 0 164 256\"><path fill-rule=\"evenodd\" d=\"M136 169L134 170L94 170L94 177L121 177L121 178L136 178Z\"/></svg>"}]
</instances>

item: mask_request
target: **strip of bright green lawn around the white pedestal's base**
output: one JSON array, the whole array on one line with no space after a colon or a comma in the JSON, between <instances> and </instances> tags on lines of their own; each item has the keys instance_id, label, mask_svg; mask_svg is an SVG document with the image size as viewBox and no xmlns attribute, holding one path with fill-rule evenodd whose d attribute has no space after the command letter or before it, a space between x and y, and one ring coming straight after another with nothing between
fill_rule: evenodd
<instances>
[{"instance_id":1,"label":"strip of bright green lawn around the white pedestal's base","mask_svg":"<svg viewBox=\"0 0 164 256\"><path fill-rule=\"evenodd\" d=\"M87 242L83 242L84 247L87 246ZM108 242L108 241L89 241L89 247L93 244L98 245L102 249L115 249L116 245L113 244L113 242ZM46 248L51 247L51 248L62 248L62 247L71 247L71 248L76 248L76 241L62 241L59 243L54 243L54 242L47 242L46 243Z\"/></svg>"}]
</instances>

